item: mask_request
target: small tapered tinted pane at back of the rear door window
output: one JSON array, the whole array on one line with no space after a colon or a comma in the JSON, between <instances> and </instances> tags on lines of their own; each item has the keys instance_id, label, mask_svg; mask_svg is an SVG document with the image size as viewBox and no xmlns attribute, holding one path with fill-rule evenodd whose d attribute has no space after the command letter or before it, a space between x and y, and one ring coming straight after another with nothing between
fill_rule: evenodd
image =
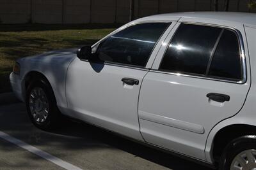
<instances>
[{"instance_id":1,"label":"small tapered tinted pane at back of the rear door window","mask_svg":"<svg viewBox=\"0 0 256 170\"><path fill-rule=\"evenodd\" d=\"M209 75L241 80L240 50L235 32L223 32L212 58Z\"/></svg>"}]
</instances>

